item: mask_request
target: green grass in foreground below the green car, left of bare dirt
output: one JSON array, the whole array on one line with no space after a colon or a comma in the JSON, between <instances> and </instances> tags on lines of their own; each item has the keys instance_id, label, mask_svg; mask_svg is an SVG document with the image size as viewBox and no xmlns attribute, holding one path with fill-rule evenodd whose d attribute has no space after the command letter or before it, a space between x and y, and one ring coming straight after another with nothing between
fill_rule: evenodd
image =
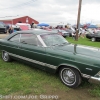
<instances>
[{"instance_id":1,"label":"green grass in foreground below the green car, left of bare dirt","mask_svg":"<svg viewBox=\"0 0 100 100\"><path fill-rule=\"evenodd\" d=\"M0 54L1 56L1 54ZM69 91L57 75L29 65L13 61L6 63L0 58L0 94L45 94L59 90Z\"/></svg>"}]
</instances>

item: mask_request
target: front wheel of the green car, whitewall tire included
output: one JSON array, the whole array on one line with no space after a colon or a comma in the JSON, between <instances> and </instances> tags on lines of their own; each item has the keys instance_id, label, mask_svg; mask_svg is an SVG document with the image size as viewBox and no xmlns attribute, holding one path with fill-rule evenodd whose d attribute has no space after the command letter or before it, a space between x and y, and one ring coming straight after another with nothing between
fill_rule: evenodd
<instances>
[{"instance_id":1,"label":"front wheel of the green car, whitewall tire included","mask_svg":"<svg viewBox=\"0 0 100 100\"><path fill-rule=\"evenodd\" d=\"M74 68L63 67L59 71L61 81L68 87L75 88L81 83L81 76Z\"/></svg>"}]
</instances>

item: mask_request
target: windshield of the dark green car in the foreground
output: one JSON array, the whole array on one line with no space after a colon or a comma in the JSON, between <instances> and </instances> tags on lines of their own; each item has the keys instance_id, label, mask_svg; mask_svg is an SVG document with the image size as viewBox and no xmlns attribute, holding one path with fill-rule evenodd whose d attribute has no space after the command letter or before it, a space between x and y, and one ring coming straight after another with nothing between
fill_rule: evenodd
<instances>
[{"instance_id":1,"label":"windshield of the dark green car in the foreground","mask_svg":"<svg viewBox=\"0 0 100 100\"><path fill-rule=\"evenodd\" d=\"M59 46L68 43L68 41L59 34L44 34L41 35L46 46Z\"/></svg>"}]
</instances>

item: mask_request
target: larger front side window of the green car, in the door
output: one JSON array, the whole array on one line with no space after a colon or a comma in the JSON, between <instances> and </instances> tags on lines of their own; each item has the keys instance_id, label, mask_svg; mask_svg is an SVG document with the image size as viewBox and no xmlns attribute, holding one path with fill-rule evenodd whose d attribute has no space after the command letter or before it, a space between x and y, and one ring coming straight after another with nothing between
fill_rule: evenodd
<instances>
[{"instance_id":1,"label":"larger front side window of the green car, in the door","mask_svg":"<svg viewBox=\"0 0 100 100\"><path fill-rule=\"evenodd\" d=\"M31 33L21 34L20 42L23 44L29 44L34 46L42 46L37 36Z\"/></svg>"}]
</instances>

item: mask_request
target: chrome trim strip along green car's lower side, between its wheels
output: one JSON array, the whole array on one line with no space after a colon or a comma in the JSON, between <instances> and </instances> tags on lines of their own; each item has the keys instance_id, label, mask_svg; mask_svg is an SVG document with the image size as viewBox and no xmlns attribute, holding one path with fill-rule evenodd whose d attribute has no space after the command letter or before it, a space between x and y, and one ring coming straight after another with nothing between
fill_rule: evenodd
<instances>
[{"instance_id":1,"label":"chrome trim strip along green car's lower side, between its wheels","mask_svg":"<svg viewBox=\"0 0 100 100\"><path fill-rule=\"evenodd\" d=\"M55 70L57 69L57 66L54 66L54 65L50 65L50 64L47 64L47 63L43 63L43 62L40 62L40 61L36 61L36 60L33 60L33 59L22 57L22 56L12 54L12 53L8 53L8 54L13 56L13 57L20 58L20 59L23 59L23 60L26 60L26 61L29 61L29 62L32 62L32 63L35 63L35 64L39 64L39 65L49 67L49 68L52 68L52 69L55 69Z\"/></svg>"}]
</instances>

